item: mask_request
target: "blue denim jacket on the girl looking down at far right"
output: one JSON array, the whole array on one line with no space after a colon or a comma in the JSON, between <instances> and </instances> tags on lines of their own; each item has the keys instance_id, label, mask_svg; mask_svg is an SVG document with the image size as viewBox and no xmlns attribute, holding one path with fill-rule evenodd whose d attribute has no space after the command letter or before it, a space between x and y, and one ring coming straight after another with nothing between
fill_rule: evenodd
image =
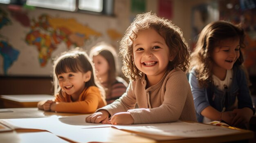
<instances>
[{"instance_id":1,"label":"blue denim jacket on the girl looking down at far right","mask_svg":"<svg viewBox=\"0 0 256 143\"><path fill-rule=\"evenodd\" d=\"M219 90L213 83L209 83L207 88L200 88L195 75L194 70L189 73L189 84L193 94L198 122L203 122L204 117L201 112L207 106L212 106L220 112L224 107L226 108L225 111L234 110L231 106L234 105L236 98L238 99L238 109L248 107L255 113L245 72L240 67L233 67L232 83L225 91Z\"/></svg>"}]
</instances>

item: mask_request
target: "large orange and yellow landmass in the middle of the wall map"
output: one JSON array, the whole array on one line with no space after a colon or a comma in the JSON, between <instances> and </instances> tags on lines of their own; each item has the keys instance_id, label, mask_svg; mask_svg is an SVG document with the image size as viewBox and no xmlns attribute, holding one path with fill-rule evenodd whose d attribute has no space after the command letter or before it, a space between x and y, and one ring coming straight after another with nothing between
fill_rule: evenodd
<instances>
[{"instance_id":1,"label":"large orange and yellow landmass in the middle of the wall map","mask_svg":"<svg viewBox=\"0 0 256 143\"><path fill-rule=\"evenodd\" d=\"M40 66L47 64L52 52L58 44L65 42L67 48L70 46L83 46L90 37L100 37L102 34L90 29L88 26L78 23L75 19L52 18L42 14L38 21L33 20L31 31L26 35L26 42L36 46Z\"/></svg>"}]
</instances>

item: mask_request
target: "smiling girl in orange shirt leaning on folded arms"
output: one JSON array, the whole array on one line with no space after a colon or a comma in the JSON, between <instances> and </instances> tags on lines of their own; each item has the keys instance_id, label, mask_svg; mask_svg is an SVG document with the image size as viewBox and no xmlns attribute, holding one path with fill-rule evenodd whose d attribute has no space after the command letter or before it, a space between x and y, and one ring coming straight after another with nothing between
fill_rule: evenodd
<instances>
[{"instance_id":1,"label":"smiling girl in orange shirt leaning on folded arms","mask_svg":"<svg viewBox=\"0 0 256 143\"><path fill-rule=\"evenodd\" d=\"M38 109L53 112L92 113L106 106L88 55L79 49L63 53L54 62L54 100L38 102ZM104 94L103 94L104 93Z\"/></svg>"}]
</instances>

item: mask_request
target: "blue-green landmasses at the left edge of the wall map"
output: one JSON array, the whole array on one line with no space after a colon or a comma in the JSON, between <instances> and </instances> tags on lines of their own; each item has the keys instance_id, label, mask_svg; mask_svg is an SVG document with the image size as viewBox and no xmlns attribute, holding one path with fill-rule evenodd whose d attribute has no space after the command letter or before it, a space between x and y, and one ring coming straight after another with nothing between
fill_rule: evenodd
<instances>
[{"instance_id":1,"label":"blue-green landmasses at the left edge of the wall map","mask_svg":"<svg viewBox=\"0 0 256 143\"><path fill-rule=\"evenodd\" d=\"M0 9L0 29L8 24L11 24L11 20L9 20L7 13ZM18 59L19 53L20 51L13 48L6 40L0 40L0 55L3 57L4 75L7 75L8 68Z\"/></svg>"}]
</instances>

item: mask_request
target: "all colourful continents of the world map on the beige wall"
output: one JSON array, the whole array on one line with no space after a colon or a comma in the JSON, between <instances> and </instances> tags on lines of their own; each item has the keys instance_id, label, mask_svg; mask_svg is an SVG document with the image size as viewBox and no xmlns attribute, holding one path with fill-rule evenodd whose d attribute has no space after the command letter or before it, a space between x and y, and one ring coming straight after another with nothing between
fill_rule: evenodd
<instances>
[{"instance_id":1,"label":"all colourful continents of the world map on the beige wall","mask_svg":"<svg viewBox=\"0 0 256 143\"><path fill-rule=\"evenodd\" d=\"M37 49L40 67L44 67L52 59L52 52L58 48L59 44L65 43L68 50L71 47L82 47L88 40L95 40L102 36L102 33L77 22L74 18L55 18L41 14L37 18L29 19L27 13L21 11L10 11L10 13L15 22L29 28L24 42ZM7 12L0 9L0 31L2 27L11 24L12 21ZM112 40L121 37L115 29L108 29L106 33ZM4 37L2 33L0 36ZM13 62L19 59L20 51L8 40L0 40L0 55L3 58L4 75L7 75Z\"/></svg>"}]
</instances>

